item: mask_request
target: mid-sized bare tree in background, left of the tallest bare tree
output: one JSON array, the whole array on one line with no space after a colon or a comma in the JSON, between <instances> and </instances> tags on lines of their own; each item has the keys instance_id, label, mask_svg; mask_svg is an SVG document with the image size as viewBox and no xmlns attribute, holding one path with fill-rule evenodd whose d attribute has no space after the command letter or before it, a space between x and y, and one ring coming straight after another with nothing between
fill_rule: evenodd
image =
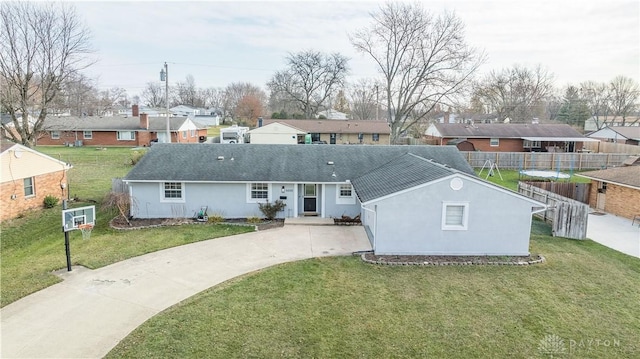
<instances>
[{"instance_id":1,"label":"mid-sized bare tree in background, left of the tallest bare tree","mask_svg":"<svg viewBox=\"0 0 640 359\"><path fill-rule=\"evenodd\" d=\"M338 53L326 55L308 50L289 54L287 69L276 72L267 86L272 94L291 99L306 118L312 118L344 84L348 61Z\"/></svg>"}]
</instances>

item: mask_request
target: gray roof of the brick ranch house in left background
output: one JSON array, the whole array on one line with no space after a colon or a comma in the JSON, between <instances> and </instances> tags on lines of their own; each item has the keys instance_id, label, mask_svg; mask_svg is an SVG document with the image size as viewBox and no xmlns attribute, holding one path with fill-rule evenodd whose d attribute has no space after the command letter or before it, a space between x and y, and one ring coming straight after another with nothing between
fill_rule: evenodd
<instances>
[{"instance_id":1,"label":"gray roof of the brick ranch house in left background","mask_svg":"<svg viewBox=\"0 0 640 359\"><path fill-rule=\"evenodd\" d=\"M170 127L177 131L187 120L186 117L172 117ZM195 123L195 122L194 122ZM195 123L198 126L197 123ZM204 126L200 125L204 128ZM48 116L42 129L45 131L140 131L139 117L75 117L75 116ZM149 131L165 131L167 129L166 117L149 117Z\"/></svg>"}]
</instances>

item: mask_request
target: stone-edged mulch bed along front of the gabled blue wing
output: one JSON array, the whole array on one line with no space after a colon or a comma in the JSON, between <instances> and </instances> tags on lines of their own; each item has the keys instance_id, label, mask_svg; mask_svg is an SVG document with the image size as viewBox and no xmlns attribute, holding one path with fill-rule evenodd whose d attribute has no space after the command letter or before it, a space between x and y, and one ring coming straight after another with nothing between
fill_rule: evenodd
<instances>
[{"instance_id":1,"label":"stone-edged mulch bed along front of the gabled blue wing","mask_svg":"<svg viewBox=\"0 0 640 359\"><path fill-rule=\"evenodd\" d=\"M385 265L529 265L545 261L537 254L529 256L377 256L373 253L363 253L362 260L372 264Z\"/></svg>"}]
</instances>

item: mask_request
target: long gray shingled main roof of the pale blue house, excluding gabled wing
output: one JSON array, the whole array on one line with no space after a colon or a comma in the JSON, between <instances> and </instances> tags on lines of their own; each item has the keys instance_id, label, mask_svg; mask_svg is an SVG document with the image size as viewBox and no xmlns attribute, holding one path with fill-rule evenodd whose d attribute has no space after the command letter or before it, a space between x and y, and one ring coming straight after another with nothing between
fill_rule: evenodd
<instances>
[{"instance_id":1,"label":"long gray shingled main roof of the pale blue house, excluding gabled wing","mask_svg":"<svg viewBox=\"0 0 640 359\"><path fill-rule=\"evenodd\" d=\"M149 149L125 180L345 182L407 153L475 175L452 146L159 143Z\"/></svg>"}]
</instances>

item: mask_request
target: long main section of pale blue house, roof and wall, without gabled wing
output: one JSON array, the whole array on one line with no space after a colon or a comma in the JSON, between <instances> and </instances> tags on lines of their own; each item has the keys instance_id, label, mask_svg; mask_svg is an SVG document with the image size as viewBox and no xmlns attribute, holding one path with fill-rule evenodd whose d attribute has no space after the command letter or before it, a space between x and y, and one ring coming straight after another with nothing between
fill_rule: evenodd
<instances>
[{"instance_id":1,"label":"long main section of pale blue house, roof and wall, without gabled wing","mask_svg":"<svg viewBox=\"0 0 640 359\"><path fill-rule=\"evenodd\" d=\"M225 218L262 217L258 203L282 200L279 218L356 216L350 180L407 153L470 176L455 147L157 144L125 176L136 218L193 217L202 207Z\"/></svg>"}]
</instances>

